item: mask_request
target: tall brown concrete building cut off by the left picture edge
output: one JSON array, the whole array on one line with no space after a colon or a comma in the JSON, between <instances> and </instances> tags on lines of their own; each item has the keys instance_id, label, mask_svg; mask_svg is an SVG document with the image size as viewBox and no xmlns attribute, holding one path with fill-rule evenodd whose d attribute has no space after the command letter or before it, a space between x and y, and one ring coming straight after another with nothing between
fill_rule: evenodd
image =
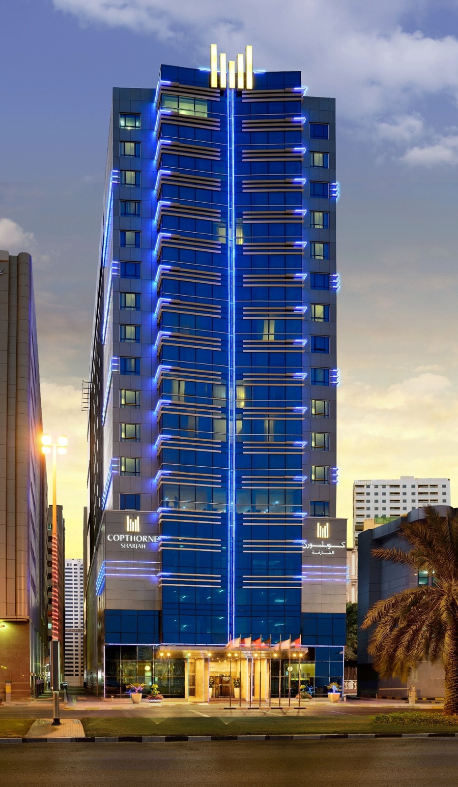
<instances>
[{"instance_id":1,"label":"tall brown concrete building cut off by the left picture edge","mask_svg":"<svg viewBox=\"0 0 458 787\"><path fill-rule=\"evenodd\" d=\"M0 693L43 687L46 464L31 257L0 251ZM10 692L9 692L10 688Z\"/></svg>"}]
</instances>

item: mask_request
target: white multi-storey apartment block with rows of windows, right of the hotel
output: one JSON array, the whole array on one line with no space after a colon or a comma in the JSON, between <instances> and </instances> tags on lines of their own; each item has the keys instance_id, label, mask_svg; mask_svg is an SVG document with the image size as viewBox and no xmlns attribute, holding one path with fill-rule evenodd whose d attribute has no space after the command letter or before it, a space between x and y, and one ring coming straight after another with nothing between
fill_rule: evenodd
<instances>
[{"instance_id":1,"label":"white multi-storey apartment block with rows of windows, right of the hotel","mask_svg":"<svg viewBox=\"0 0 458 787\"><path fill-rule=\"evenodd\" d=\"M449 478L382 478L353 483L353 527L355 537L364 519L397 517L421 505L450 505Z\"/></svg>"}]
</instances>

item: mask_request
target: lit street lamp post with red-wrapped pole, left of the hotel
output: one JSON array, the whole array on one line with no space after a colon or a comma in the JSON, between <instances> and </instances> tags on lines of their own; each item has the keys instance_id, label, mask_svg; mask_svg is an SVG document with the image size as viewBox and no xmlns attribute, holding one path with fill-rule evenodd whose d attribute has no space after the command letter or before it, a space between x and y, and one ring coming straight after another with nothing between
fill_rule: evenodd
<instances>
[{"instance_id":1,"label":"lit street lamp post with red-wrapped pole, left of the hotel","mask_svg":"<svg viewBox=\"0 0 458 787\"><path fill-rule=\"evenodd\" d=\"M59 549L57 541L57 454L67 453L68 439L61 435L57 443L52 441L49 434L42 435L42 453L53 454L53 530L52 530L52 611L51 611L51 647L50 647L50 674L51 689L53 692L53 724L61 723L59 708L61 690L61 654L60 654L60 620L59 620Z\"/></svg>"}]
</instances>

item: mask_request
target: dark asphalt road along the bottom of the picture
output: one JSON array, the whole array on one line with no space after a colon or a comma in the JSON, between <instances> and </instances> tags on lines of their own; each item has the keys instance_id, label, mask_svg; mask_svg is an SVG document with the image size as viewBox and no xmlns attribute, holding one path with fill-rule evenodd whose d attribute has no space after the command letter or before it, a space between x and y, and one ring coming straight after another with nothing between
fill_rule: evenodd
<instances>
[{"instance_id":1,"label":"dark asphalt road along the bottom of the picture","mask_svg":"<svg viewBox=\"0 0 458 787\"><path fill-rule=\"evenodd\" d=\"M2 744L8 787L456 787L458 739Z\"/></svg>"}]
</instances>

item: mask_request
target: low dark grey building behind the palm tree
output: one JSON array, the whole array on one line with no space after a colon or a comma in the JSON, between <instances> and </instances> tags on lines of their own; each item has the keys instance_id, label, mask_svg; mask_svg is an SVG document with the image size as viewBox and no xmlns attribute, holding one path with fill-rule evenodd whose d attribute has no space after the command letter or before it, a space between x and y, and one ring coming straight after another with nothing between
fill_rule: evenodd
<instances>
[{"instance_id":1,"label":"low dark grey building behind the palm tree","mask_svg":"<svg viewBox=\"0 0 458 787\"><path fill-rule=\"evenodd\" d=\"M449 506L436 506L442 515L456 513L456 509ZM422 509L408 512L409 522L416 522L423 515ZM358 693L362 696L404 697L407 696L408 686L414 684L420 696L444 696L444 671L440 664L423 662L418 669L413 671L407 682L398 678L379 678L379 674L372 667L371 657L368 656L368 640L370 633L360 629L361 624L373 604L383 598L388 598L393 593L399 593L405 588L418 585L428 585L432 578L427 572L416 572L415 568L387 560L376 560L371 556L375 547L401 546L397 530L401 519L365 530L358 537Z\"/></svg>"}]
</instances>

